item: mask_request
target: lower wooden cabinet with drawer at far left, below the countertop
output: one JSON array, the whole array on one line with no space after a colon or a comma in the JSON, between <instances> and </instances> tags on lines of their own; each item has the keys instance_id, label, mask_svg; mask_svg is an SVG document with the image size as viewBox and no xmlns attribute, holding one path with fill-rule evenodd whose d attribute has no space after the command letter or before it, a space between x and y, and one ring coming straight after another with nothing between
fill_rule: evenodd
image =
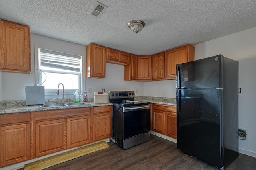
<instances>
[{"instance_id":1,"label":"lower wooden cabinet with drawer at far left, below the countertop","mask_svg":"<svg viewBox=\"0 0 256 170\"><path fill-rule=\"evenodd\" d=\"M31 156L30 112L0 114L0 168Z\"/></svg>"}]
</instances>

